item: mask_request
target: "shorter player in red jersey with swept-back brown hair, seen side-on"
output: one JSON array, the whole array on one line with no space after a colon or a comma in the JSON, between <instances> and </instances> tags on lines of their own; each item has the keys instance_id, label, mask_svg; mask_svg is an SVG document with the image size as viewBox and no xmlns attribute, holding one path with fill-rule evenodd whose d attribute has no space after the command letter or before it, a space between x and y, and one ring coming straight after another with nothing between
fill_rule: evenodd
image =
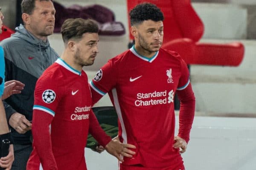
<instances>
[{"instance_id":1,"label":"shorter player in red jersey with swept-back brown hair, seen side-on","mask_svg":"<svg viewBox=\"0 0 256 170\"><path fill-rule=\"evenodd\" d=\"M91 92L83 66L98 53L98 26L92 20L68 19L61 27L65 50L35 86L33 150L27 170L86 170L84 147L88 132L123 161L133 145L111 140L92 112Z\"/></svg>"}]
</instances>

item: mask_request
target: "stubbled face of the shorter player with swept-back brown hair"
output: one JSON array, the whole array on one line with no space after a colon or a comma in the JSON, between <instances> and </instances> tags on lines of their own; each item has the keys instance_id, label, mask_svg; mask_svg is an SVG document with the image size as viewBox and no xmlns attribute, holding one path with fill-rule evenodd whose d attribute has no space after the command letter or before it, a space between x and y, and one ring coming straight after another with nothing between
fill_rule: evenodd
<instances>
[{"instance_id":1,"label":"stubbled face of the shorter player with swept-back brown hair","mask_svg":"<svg viewBox=\"0 0 256 170\"><path fill-rule=\"evenodd\" d=\"M75 63L81 66L93 65L98 51L99 35L84 33L82 39L76 42Z\"/></svg>"}]
</instances>

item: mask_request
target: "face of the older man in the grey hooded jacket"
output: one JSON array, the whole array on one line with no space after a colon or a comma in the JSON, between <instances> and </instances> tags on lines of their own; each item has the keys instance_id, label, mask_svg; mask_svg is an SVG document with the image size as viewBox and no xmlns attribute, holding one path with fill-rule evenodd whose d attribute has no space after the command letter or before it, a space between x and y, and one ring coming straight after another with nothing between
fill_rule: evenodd
<instances>
[{"instance_id":1,"label":"face of the older man in the grey hooded jacket","mask_svg":"<svg viewBox=\"0 0 256 170\"><path fill-rule=\"evenodd\" d=\"M47 37L53 34L55 8L51 1L36 0L35 9L29 17L29 30L36 37Z\"/></svg>"}]
</instances>

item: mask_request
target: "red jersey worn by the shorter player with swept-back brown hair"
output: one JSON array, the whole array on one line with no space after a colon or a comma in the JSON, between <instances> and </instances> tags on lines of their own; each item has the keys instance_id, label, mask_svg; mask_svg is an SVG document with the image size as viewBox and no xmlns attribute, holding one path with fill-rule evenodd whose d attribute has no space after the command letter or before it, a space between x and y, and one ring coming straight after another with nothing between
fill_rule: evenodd
<instances>
[{"instance_id":1,"label":"red jersey worn by the shorter player with swept-back brown hair","mask_svg":"<svg viewBox=\"0 0 256 170\"><path fill-rule=\"evenodd\" d=\"M86 170L84 147L88 130L90 127L100 128L91 106L86 73L57 59L36 83L33 151L27 169L39 170L42 164L44 169ZM105 146L111 138L103 130L99 135L102 132L104 139L101 143Z\"/></svg>"}]
</instances>

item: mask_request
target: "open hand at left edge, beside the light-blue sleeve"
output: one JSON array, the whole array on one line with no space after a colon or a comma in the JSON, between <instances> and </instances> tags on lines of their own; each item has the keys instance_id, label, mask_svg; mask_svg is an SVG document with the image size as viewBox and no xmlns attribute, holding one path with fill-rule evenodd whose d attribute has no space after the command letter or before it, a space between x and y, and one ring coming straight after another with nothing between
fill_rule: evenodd
<instances>
[{"instance_id":1,"label":"open hand at left edge, beside the light-blue sleeve","mask_svg":"<svg viewBox=\"0 0 256 170\"><path fill-rule=\"evenodd\" d=\"M9 96L13 94L20 94L24 88L24 84L17 80L11 80L4 83L4 91L2 100L7 99Z\"/></svg>"}]
</instances>

